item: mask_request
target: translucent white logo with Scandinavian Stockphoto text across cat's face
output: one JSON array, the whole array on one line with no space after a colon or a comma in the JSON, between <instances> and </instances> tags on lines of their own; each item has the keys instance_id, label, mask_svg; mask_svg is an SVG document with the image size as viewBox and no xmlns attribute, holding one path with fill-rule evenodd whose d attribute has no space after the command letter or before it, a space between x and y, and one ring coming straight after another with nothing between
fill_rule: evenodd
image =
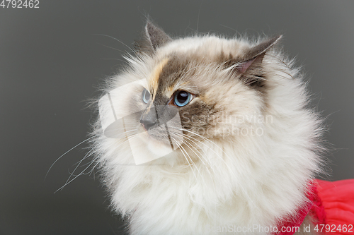
<instances>
[{"instance_id":1,"label":"translucent white logo with Scandinavian Stockphoto text across cat's face","mask_svg":"<svg viewBox=\"0 0 354 235\"><path fill-rule=\"evenodd\" d=\"M260 124L273 123L273 116L261 114L181 114L176 106L154 104L146 87L145 79L127 83L103 95L98 102L104 135L126 140L136 165L178 150L183 145L183 131L188 129L185 126L193 126L194 123L202 127L195 128L193 134L201 137L217 135L222 138L234 135L260 136L264 134Z\"/></svg>"}]
</instances>

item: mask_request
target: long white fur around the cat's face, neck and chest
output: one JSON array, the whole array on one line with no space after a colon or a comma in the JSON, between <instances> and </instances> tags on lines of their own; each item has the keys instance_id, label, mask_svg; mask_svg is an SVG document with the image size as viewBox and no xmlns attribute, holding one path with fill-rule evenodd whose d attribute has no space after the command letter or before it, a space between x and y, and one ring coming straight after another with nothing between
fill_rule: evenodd
<instances>
[{"instance_id":1,"label":"long white fur around the cat's face, neck and chest","mask_svg":"<svg viewBox=\"0 0 354 235\"><path fill-rule=\"evenodd\" d=\"M245 40L209 35L174 40L159 48L154 58L130 58L132 69L110 78L106 89L148 78L156 61L171 52L190 54L202 49L202 53L215 56L222 48L241 54L249 45ZM307 90L292 61L270 50L263 63L268 84L272 84L266 100L241 81L219 95L229 97L224 104L234 106L227 114L233 110L245 116L269 115L272 121L237 123L248 130L261 128L260 136L253 132L203 140L198 151L205 161L181 164L178 159L185 157L176 151L151 164L136 166L127 143L106 138L96 123L94 150L103 180L111 193L113 209L127 219L130 234L224 234L215 229L270 227L304 203L307 183L319 171L316 152L320 150L321 123L307 109ZM215 68L205 68L205 73L215 73ZM226 76L227 71L220 74ZM210 90L217 95L217 90ZM192 149L186 151L192 157L196 154Z\"/></svg>"}]
</instances>

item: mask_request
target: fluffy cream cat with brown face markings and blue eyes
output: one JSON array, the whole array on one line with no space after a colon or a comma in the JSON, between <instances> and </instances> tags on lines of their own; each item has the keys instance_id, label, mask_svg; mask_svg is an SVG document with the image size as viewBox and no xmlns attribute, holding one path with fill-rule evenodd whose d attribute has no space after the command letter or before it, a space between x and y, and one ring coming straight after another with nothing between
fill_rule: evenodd
<instances>
[{"instance_id":1,"label":"fluffy cream cat with brown face markings and blue eyes","mask_svg":"<svg viewBox=\"0 0 354 235\"><path fill-rule=\"evenodd\" d=\"M142 35L105 83L91 143L129 233L314 225L303 211L321 172L323 125L282 37L172 38L151 20Z\"/></svg>"}]
</instances>

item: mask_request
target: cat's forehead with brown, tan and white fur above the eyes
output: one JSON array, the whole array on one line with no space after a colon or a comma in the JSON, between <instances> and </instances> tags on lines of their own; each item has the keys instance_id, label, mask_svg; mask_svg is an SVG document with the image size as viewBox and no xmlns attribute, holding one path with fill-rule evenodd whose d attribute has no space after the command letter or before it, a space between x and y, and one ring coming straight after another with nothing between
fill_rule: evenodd
<instances>
[{"instance_id":1,"label":"cat's forehead with brown, tan and white fur above the eyes","mask_svg":"<svg viewBox=\"0 0 354 235\"><path fill-rule=\"evenodd\" d=\"M217 37L175 40L159 49L149 61L147 83L154 94L171 96L176 90L198 92L198 77L228 59L241 58L245 44Z\"/></svg>"}]
</instances>

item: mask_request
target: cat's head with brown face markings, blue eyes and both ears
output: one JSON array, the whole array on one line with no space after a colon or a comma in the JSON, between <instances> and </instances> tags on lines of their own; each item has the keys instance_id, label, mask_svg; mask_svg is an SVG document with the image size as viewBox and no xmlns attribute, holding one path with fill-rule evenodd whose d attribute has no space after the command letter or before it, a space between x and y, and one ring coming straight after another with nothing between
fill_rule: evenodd
<instances>
[{"instance_id":1,"label":"cat's head with brown face markings, blue eyes and both ears","mask_svg":"<svg viewBox=\"0 0 354 235\"><path fill-rule=\"evenodd\" d=\"M279 40L172 39L148 22L130 67L101 98L105 135L127 140L139 164L263 134L258 122L273 86L267 56Z\"/></svg>"}]
</instances>

